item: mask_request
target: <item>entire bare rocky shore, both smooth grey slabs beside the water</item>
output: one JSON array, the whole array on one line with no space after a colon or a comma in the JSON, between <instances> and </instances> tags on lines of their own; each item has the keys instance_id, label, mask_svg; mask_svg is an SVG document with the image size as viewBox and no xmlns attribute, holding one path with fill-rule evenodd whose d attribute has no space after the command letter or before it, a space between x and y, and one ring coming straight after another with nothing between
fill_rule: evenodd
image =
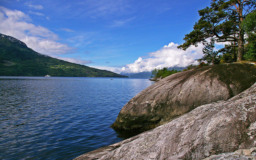
<instances>
[{"instance_id":1,"label":"entire bare rocky shore, both smooth grey slabs beside the water","mask_svg":"<svg viewBox=\"0 0 256 160\"><path fill-rule=\"evenodd\" d=\"M255 81L254 63L166 77L132 98L113 125L154 129L75 160L256 159Z\"/></svg>"}]
</instances>

